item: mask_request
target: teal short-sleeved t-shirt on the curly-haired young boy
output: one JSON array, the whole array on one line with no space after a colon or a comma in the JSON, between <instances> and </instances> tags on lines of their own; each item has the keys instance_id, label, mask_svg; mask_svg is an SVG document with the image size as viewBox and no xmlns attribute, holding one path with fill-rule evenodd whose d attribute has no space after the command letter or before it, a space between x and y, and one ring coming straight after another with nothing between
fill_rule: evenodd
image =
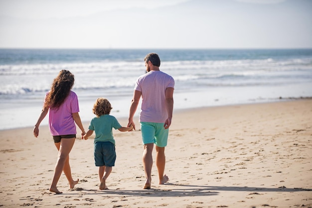
<instances>
[{"instance_id":1,"label":"teal short-sleeved t-shirt on the curly-haired young boy","mask_svg":"<svg viewBox=\"0 0 312 208\"><path fill-rule=\"evenodd\" d=\"M91 120L89 129L95 131L94 143L96 142L111 142L115 145L113 136L113 128L119 129L122 126L114 116L105 114L95 117Z\"/></svg>"}]
</instances>

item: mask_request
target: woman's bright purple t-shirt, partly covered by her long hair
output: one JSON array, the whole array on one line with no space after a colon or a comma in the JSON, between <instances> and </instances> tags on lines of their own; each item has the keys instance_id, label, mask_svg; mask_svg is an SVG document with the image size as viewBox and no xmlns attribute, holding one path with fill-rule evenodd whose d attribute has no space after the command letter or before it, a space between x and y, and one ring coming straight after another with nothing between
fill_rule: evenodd
<instances>
[{"instance_id":1,"label":"woman's bright purple t-shirt, partly covered by her long hair","mask_svg":"<svg viewBox=\"0 0 312 208\"><path fill-rule=\"evenodd\" d=\"M46 93L45 97L49 92ZM50 108L49 127L52 136L76 134L76 124L72 113L79 112L76 93L70 91L64 103L57 108Z\"/></svg>"}]
</instances>

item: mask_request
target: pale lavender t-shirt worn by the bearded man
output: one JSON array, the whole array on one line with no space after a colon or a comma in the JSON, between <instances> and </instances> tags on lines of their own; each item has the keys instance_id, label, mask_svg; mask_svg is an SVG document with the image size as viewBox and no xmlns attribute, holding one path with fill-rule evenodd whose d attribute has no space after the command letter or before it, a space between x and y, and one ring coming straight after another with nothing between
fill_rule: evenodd
<instances>
[{"instance_id":1,"label":"pale lavender t-shirt worn by the bearded man","mask_svg":"<svg viewBox=\"0 0 312 208\"><path fill-rule=\"evenodd\" d=\"M164 123L168 118L165 90L174 88L174 79L162 71L150 71L140 76L134 90L142 93L140 122Z\"/></svg>"}]
</instances>

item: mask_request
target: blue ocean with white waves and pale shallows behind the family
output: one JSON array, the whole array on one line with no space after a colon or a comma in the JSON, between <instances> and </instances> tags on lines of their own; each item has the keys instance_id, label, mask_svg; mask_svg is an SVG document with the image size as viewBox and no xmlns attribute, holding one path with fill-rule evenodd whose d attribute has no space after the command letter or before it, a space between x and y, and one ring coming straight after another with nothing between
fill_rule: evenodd
<instances>
[{"instance_id":1,"label":"blue ocean with white waves and pale shallows behind the family","mask_svg":"<svg viewBox=\"0 0 312 208\"><path fill-rule=\"evenodd\" d=\"M175 80L174 111L312 97L312 49L0 49L0 130L33 126L61 69L75 75L83 122L98 97L128 117L150 52Z\"/></svg>"}]
</instances>

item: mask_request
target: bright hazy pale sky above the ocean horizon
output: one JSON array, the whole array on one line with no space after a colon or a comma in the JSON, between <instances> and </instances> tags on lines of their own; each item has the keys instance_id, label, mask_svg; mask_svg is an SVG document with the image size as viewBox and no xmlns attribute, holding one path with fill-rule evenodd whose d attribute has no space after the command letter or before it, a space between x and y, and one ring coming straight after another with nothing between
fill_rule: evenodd
<instances>
[{"instance_id":1,"label":"bright hazy pale sky above the ocean horizon","mask_svg":"<svg viewBox=\"0 0 312 208\"><path fill-rule=\"evenodd\" d=\"M312 0L0 0L0 48L311 48Z\"/></svg>"}]
</instances>

